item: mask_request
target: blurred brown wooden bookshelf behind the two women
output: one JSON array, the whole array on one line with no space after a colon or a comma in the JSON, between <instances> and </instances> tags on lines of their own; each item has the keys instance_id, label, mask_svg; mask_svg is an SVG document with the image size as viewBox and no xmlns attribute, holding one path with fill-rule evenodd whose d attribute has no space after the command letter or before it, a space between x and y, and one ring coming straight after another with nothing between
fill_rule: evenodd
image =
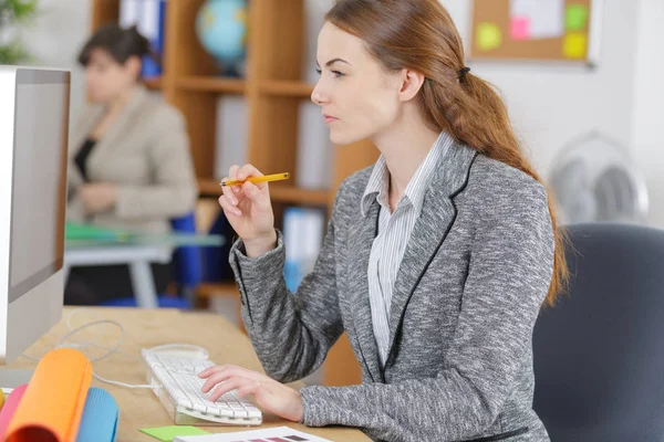
<instances>
[{"instance_id":1,"label":"blurred brown wooden bookshelf behind the two women","mask_svg":"<svg viewBox=\"0 0 664 442\"><path fill-rule=\"evenodd\" d=\"M91 0L92 30L117 22L121 0ZM246 78L216 75L212 57L200 45L195 32L196 14L205 0L168 0L165 24L163 75L145 80L149 90L160 91L187 120L191 156L201 198L220 194L214 176L216 112L220 95L239 95L247 101L247 158L266 172L290 171L291 179L270 185L274 217L280 227L288 206L315 206L328 209L336 188L352 172L374 162L377 152L363 140L335 146L332 185L329 189L304 189L297 185L298 112L302 99L310 99L313 85L302 82L304 0L252 0ZM206 284L201 297L238 296L232 284ZM324 366L325 385L360 383L360 367L345 336L332 348Z\"/></svg>"}]
</instances>

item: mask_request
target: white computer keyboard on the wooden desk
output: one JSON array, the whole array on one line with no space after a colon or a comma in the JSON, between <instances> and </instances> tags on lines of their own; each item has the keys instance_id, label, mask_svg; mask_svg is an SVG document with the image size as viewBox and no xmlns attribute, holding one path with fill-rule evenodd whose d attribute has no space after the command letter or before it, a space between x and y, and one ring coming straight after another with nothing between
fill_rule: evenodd
<instances>
[{"instance_id":1,"label":"white computer keyboard on the wooden desk","mask_svg":"<svg viewBox=\"0 0 664 442\"><path fill-rule=\"evenodd\" d=\"M178 425L237 424L260 425L262 413L251 401L238 398L235 391L216 402L200 389L205 379L198 373L214 367L209 359L190 356L142 351L147 364L147 382Z\"/></svg>"}]
</instances>

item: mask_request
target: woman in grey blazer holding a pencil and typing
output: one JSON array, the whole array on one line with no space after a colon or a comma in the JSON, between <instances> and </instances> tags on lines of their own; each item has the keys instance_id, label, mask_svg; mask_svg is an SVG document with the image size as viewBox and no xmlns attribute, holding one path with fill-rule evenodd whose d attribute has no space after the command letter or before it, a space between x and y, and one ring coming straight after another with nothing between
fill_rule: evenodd
<instances>
[{"instance_id":1,"label":"woman in grey blazer holding a pencil and typing","mask_svg":"<svg viewBox=\"0 0 664 442\"><path fill-rule=\"evenodd\" d=\"M549 441L532 410L531 339L567 267L504 104L465 67L438 0L340 0L318 43L312 99L332 141L370 138L382 155L341 185L292 296L268 186L225 190L242 319L268 376L215 367L203 390L377 441ZM362 385L280 383L320 367L343 332Z\"/></svg>"}]
</instances>

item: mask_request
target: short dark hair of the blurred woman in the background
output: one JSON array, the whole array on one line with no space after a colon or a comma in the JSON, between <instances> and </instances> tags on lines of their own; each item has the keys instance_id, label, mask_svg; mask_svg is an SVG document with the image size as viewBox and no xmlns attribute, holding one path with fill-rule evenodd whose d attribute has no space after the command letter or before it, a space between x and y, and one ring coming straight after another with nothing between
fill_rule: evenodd
<instances>
[{"instance_id":1,"label":"short dark hair of the blurred woman in the background","mask_svg":"<svg viewBox=\"0 0 664 442\"><path fill-rule=\"evenodd\" d=\"M132 56L142 59L144 55L151 55L159 62L149 46L149 41L138 32L136 25L125 29L117 24L107 24L101 28L81 50L79 63L86 66L90 63L90 54L95 49L104 50L120 64L125 64Z\"/></svg>"}]
</instances>

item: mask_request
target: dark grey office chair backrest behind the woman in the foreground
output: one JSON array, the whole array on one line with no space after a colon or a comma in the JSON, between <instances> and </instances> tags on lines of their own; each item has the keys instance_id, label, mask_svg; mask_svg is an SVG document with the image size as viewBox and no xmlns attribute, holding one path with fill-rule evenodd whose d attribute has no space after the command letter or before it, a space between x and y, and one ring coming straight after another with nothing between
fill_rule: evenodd
<instances>
[{"instance_id":1,"label":"dark grey office chair backrest behind the woman in the foreground","mask_svg":"<svg viewBox=\"0 0 664 442\"><path fill-rule=\"evenodd\" d=\"M664 230L567 230L569 295L535 327L535 410L551 442L662 442Z\"/></svg>"}]
</instances>

